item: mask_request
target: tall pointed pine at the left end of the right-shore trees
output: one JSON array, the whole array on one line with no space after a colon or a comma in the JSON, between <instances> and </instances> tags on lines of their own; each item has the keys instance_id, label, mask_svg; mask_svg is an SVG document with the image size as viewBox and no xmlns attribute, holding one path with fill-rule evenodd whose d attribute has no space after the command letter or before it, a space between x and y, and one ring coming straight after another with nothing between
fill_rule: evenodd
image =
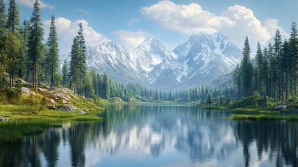
<instances>
[{"instance_id":1,"label":"tall pointed pine at the left end of the right-shore trees","mask_svg":"<svg viewBox=\"0 0 298 167\"><path fill-rule=\"evenodd\" d=\"M254 67L251 64L250 59L250 47L248 37L245 39L245 47L242 51L243 58L241 61L241 80L242 86L245 90L245 97L248 97L251 94L251 84L253 78Z\"/></svg>"}]
</instances>

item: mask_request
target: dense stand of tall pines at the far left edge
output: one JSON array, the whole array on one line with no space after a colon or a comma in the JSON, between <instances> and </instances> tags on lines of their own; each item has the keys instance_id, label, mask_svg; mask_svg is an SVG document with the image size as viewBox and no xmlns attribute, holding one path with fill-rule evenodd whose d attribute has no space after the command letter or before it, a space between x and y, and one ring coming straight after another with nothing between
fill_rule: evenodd
<instances>
[{"instance_id":1,"label":"dense stand of tall pines at the far left edge","mask_svg":"<svg viewBox=\"0 0 298 167\"><path fill-rule=\"evenodd\" d=\"M44 44L39 1L34 3L31 18L22 25L16 1L10 0L8 5L6 11L5 1L0 0L0 88L15 86L16 76L31 82L36 93L41 82L50 86L60 84L55 17L51 17L49 37ZM9 74L9 84L5 72Z\"/></svg>"}]
</instances>

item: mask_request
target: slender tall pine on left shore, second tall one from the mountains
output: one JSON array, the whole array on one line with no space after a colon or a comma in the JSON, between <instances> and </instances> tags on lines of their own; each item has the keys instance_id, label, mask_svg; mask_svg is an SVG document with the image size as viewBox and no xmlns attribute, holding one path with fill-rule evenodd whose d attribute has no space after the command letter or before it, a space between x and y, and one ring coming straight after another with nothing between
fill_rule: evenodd
<instances>
[{"instance_id":1,"label":"slender tall pine on left shore, second tall one from the mountains","mask_svg":"<svg viewBox=\"0 0 298 167\"><path fill-rule=\"evenodd\" d=\"M55 17L51 16L51 26L49 28L49 38L47 40L47 48L49 50L48 66L50 75L50 86L54 87L54 76L58 72L58 38L55 25Z\"/></svg>"}]
</instances>

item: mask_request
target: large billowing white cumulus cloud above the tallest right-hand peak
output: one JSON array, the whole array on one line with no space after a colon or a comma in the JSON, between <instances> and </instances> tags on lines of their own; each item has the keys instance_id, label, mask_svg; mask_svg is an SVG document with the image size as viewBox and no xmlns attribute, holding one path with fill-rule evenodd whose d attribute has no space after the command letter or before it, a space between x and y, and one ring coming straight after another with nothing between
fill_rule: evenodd
<instances>
[{"instance_id":1,"label":"large billowing white cumulus cloud above the tallest right-hand peak","mask_svg":"<svg viewBox=\"0 0 298 167\"><path fill-rule=\"evenodd\" d=\"M276 19L260 22L252 10L238 5L229 7L222 15L217 16L203 10L197 3L179 5L172 1L159 1L142 8L141 13L167 30L186 34L220 31L240 47L246 36L253 46L258 41L265 44L274 35L272 31L275 32L276 28L279 28L284 36L288 35L278 26Z\"/></svg>"}]
</instances>

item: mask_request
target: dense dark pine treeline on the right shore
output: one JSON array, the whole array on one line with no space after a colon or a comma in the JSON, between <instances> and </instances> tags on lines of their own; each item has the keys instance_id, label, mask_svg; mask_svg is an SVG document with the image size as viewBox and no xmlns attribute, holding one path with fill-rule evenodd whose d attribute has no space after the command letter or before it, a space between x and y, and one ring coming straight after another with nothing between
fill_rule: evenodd
<instances>
[{"instance_id":1,"label":"dense dark pine treeline on the right shore","mask_svg":"<svg viewBox=\"0 0 298 167\"><path fill-rule=\"evenodd\" d=\"M290 39L281 39L276 30L274 43L261 49L258 43L256 65L251 63L249 40L246 38L243 59L235 68L233 81L238 98L247 97L254 91L279 100L297 95L298 37L297 27L292 23Z\"/></svg>"}]
</instances>

